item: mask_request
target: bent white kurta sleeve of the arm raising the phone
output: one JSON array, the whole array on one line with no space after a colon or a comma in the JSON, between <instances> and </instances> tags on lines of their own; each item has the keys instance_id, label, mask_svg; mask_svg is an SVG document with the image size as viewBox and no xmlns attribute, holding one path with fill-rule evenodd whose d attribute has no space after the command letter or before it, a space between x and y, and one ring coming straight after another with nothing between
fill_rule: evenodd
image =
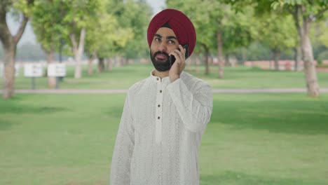
<instances>
[{"instance_id":1,"label":"bent white kurta sleeve of the arm raising the phone","mask_svg":"<svg viewBox=\"0 0 328 185\"><path fill-rule=\"evenodd\" d=\"M198 82L191 91L182 79L178 78L170 83L167 89L185 127L191 132L205 129L210 121L213 107L210 85Z\"/></svg>"}]
</instances>

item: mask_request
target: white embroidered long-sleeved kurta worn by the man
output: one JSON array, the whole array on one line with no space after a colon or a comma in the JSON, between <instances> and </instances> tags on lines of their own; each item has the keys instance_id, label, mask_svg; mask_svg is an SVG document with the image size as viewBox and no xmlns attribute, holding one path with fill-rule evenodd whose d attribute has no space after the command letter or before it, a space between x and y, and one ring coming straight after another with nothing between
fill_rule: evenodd
<instances>
[{"instance_id":1,"label":"white embroidered long-sleeved kurta worn by the man","mask_svg":"<svg viewBox=\"0 0 328 185\"><path fill-rule=\"evenodd\" d=\"M111 162L111 185L199 184L199 147L212 114L208 83L182 72L128 90Z\"/></svg>"}]
</instances>

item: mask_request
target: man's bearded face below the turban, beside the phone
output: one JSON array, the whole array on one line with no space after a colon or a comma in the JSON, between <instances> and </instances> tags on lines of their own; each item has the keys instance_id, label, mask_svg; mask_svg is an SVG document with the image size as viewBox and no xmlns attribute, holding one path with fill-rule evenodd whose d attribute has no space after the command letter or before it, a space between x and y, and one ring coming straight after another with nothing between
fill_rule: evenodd
<instances>
[{"instance_id":1,"label":"man's bearded face below the turban, beside the phone","mask_svg":"<svg viewBox=\"0 0 328 185\"><path fill-rule=\"evenodd\" d=\"M168 27L161 27L151 43L151 62L158 71L170 70L169 54L179 48L175 32Z\"/></svg>"}]
</instances>

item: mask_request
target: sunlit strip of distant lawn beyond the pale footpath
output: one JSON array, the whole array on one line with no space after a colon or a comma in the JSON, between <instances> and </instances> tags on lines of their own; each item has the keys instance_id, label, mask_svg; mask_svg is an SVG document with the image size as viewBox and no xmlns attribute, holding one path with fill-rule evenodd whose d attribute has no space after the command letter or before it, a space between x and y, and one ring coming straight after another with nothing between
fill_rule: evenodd
<instances>
[{"instance_id":1,"label":"sunlit strip of distant lawn beyond the pale footpath","mask_svg":"<svg viewBox=\"0 0 328 185\"><path fill-rule=\"evenodd\" d=\"M96 68L96 66L94 66ZM61 89L128 89L133 83L149 76L153 69L152 64L129 64L125 67L114 67L113 71L88 76L87 66L83 66L83 77L74 79L74 67L67 67L67 77L60 82ZM196 67L186 67L198 78L203 78L212 85L212 88L306 88L302 71L273 71L252 67L226 67L223 79L217 78L217 66L210 67L209 76L204 75L204 67L196 72ZM15 78L16 89L32 88L31 78L22 76ZM317 73L321 88L328 88L328 73ZM2 83L2 81L0 82ZM47 78L36 78L36 89L45 89Z\"/></svg>"}]
</instances>

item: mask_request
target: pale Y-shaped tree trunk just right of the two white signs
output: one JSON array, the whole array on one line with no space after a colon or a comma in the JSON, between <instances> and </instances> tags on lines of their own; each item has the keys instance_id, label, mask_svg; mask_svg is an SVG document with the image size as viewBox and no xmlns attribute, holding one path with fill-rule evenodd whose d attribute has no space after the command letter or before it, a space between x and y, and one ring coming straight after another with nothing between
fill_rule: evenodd
<instances>
[{"instance_id":1,"label":"pale Y-shaped tree trunk just right of the two white signs","mask_svg":"<svg viewBox=\"0 0 328 185\"><path fill-rule=\"evenodd\" d=\"M74 78L81 78L82 76L82 67L81 67L81 59L84 51L84 39L86 38L86 28L81 29L80 41L77 44L75 35L73 33L69 34L69 38L71 39L71 43L73 45L74 57L76 62Z\"/></svg>"}]
</instances>

